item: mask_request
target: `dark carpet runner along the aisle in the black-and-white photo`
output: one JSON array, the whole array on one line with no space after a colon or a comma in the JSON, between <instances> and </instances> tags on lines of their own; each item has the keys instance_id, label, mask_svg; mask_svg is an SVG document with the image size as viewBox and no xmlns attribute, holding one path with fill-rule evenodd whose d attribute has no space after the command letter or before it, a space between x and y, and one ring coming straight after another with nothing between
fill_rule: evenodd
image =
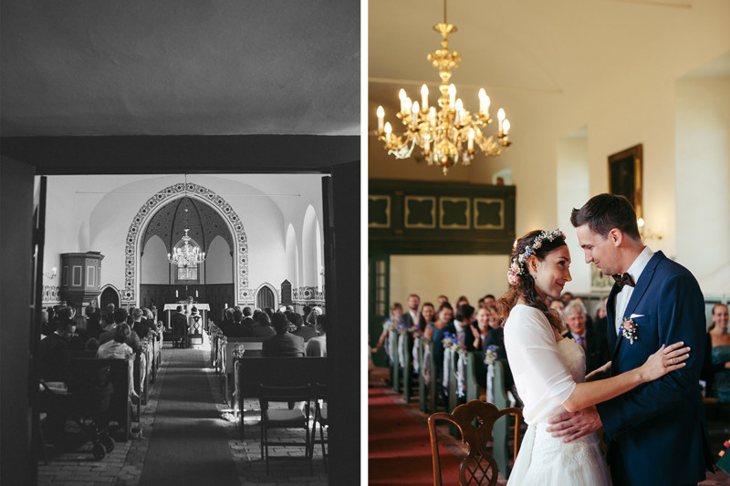
<instances>
[{"instance_id":1,"label":"dark carpet runner along the aisle in the black-and-white photo","mask_svg":"<svg viewBox=\"0 0 730 486\"><path fill-rule=\"evenodd\" d=\"M202 350L172 351L140 484L240 484L204 366Z\"/></svg>"}]
</instances>

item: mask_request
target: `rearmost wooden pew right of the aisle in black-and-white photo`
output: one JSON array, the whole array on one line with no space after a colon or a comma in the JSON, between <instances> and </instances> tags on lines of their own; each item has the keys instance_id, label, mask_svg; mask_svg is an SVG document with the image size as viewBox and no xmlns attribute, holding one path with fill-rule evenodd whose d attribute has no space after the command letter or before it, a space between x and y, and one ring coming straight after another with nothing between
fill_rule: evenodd
<instances>
[{"instance_id":1,"label":"rearmost wooden pew right of the aisle in black-and-white photo","mask_svg":"<svg viewBox=\"0 0 730 486\"><path fill-rule=\"evenodd\" d=\"M327 384L327 357L244 357L235 362L236 400L244 437L244 399L257 398L259 385L297 387Z\"/></svg>"}]
</instances>

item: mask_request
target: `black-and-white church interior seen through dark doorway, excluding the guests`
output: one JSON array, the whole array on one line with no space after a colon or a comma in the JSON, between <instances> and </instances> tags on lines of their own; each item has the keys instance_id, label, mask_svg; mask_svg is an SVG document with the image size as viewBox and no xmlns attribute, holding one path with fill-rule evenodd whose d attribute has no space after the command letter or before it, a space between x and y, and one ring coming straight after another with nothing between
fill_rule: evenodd
<instances>
[{"instance_id":1,"label":"black-and-white church interior seen through dark doorway, excluding the guests","mask_svg":"<svg viewBox=\"0 0 730 486\"><path fill-rule=\"evenodd\" d=\"M1 12L0 482L359 481L360 4ZM68 381L39 376L44 340L102 311ZM84 401L107 365L109 401ZM307 399L262 412L260 386Z\"/></svg>"}]
</instances>

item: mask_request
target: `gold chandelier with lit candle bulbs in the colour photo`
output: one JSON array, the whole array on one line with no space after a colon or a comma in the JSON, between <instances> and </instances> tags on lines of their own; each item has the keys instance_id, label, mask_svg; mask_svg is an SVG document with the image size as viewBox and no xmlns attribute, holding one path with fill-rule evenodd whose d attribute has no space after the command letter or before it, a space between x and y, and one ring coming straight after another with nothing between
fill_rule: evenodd
<instances>
[{"instance_id":1,"label":"gold chandelier with lit candle bulbs in the colour photo","mask_svg":"<svg viewBox=\"0 0 730 486\"><path fill-rule=\"evenodd\" d=\"M446 22L446 1L443 1L443 23L433 26L443 39L441 49L428 55L433 67L439 70L441 85L438 109L428 102L428 87L421 87L421 104L412 101L405 89L399 92L401 110L396 117L405 127L402 136L393 133L390 122L383 123L385 110L378 107L378 139L385 142L385 148L396 159L407 159L418 145L429 165L443 168L446 175L449 168L461 160L469 165L474 160L474 145L486 155L496 157L511 145L509 141L509 120L505 110L497 111L498 129L496 134L485 136L483 129L490 123L490 99L484 88L479 89L479 111L470 113L464 109L464 102L456 98L456 87L451 83L451 70L462 60L456 51L450 51L448 36L456 32L456 27Z\"/></svg>"}]
</instances>

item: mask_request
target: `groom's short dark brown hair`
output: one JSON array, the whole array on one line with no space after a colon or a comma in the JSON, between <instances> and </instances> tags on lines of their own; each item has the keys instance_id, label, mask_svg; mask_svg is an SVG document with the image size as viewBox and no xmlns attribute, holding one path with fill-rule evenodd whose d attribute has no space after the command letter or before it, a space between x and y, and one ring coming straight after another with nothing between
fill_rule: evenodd
<instances>
[{"instance_id":1,"label":"groom's short dark brown hair","mask_svg":"<svg viewBox=\"0 0 730 486\"><path fill-rule=\"evenodd\" d=\"M621 233L641 241L639 226L636 222L636 212L631 202L624 196L604 192L589 199L580 209L573 209L570 222L578 228L588 224L590 231L599 233L605 238L613 228L620 229Z\"/></svg>"}]
</instances>

